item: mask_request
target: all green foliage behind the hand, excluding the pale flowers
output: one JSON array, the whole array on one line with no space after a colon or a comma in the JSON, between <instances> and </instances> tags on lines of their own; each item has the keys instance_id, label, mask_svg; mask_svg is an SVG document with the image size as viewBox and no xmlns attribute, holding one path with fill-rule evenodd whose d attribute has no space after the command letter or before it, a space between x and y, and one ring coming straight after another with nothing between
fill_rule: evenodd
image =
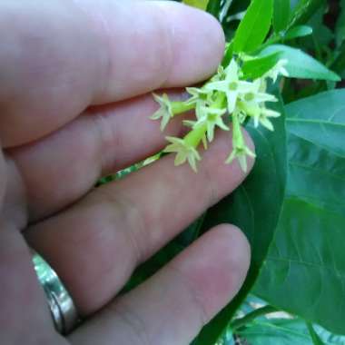
<instances>
[{"instance_id":1,"label":"all green foliage behind the hand, excluding the pale flowers","mask_svg":"<svg viewBox=\"0 0 345 345\"><path fill-rule=\"evenodd\" d=\"M126 289L213 225L232 222L251 242L251 269L242 291L193 344L232 343L229 325L255 292L298 318L249 318L233 331L251 345L344 345L344 337L328 330L345 334L345 89L332 90L345 77L345 0L338 14L328 13L325 0L184 3L221 21L228 42L224 68L235 59L243 77L254 80L286 60L290 77L303 80L276 86L280 102L273 108L287 116L273 122L274 132L246 125L257 153L249 178L135 271ZM325 22L327 13L336 16L335 25Z\"/></svg>"}]
</instances>

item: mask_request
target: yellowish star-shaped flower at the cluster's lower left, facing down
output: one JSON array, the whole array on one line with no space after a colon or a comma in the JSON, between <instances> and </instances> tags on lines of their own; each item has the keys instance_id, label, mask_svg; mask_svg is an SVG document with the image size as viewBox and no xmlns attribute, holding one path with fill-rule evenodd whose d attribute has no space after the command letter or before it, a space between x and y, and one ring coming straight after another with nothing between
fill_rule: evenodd
<instances>
[{"instance_id":1,"label":"yellowish star-shaped flower at the cluster's lower left, facing down","mask_svg":"<svg viewBox=\"0 0 345 345\"><path fill-rule=\"evenodd\" d=\"M177 153L175 157L175 165L181 165L188 161L192 170L196 173L197 161L201 161L202 157L196 151L195 147L188 143L185 139L175 138L173 136L167 136L166 139L171 143L165 147L164 153Z\"/></svg>"}]
</instances>

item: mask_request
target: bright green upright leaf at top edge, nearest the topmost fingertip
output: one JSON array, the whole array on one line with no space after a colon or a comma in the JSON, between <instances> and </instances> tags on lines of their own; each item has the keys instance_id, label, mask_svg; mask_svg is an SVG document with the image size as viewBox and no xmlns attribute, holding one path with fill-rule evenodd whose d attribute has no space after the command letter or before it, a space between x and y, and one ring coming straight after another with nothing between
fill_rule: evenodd
<instances>
[{"instance_id":1,"label":"bright green upright leaf at top edge, nearest the topmost fingertip","mask_svg":"<svg viewBox=\"0 0 345 345\"><path fill-rule=\"evenodd\" d=\"M233 51L248 53L257 49L270 31L272 15L273 0L252 0L236 31Z\"/></svg>"}]
</instances>

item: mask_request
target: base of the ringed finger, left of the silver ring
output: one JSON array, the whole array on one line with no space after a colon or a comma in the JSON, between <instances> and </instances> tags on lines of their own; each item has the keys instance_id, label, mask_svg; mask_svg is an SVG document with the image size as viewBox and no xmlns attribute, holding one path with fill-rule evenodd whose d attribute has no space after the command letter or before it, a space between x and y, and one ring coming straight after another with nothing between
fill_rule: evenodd
<instances>
[{"instance_id":1,"label":"base of the ringed finger, left of the silver ring","mask_svg":"<svg viewBox=\"0 0 345 345\"><path fill-rule=\"evenodd\" d=\"M0 330L2 344L66 345L54 330L44 291L20 232L0 215Z\"/></svg>"}]
</instances>

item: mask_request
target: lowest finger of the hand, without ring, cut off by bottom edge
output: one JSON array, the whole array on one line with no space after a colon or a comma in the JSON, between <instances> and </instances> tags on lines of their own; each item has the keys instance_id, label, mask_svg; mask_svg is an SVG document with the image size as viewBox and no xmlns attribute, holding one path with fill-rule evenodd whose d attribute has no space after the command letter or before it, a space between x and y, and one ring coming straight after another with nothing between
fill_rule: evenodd
<instances>
[{"instance_id":1,"label":"lowest finger of the hand, without ring, cut off by bottom edge","mask_svg":"<svg viewBox=\"0 0 345 345\"><path fill-rule=\"evenodd\" d=\"M187 345L240 290L250 263L242 232L221 225L70 337L72 344Z\"/></svg>"}]
</instances>

